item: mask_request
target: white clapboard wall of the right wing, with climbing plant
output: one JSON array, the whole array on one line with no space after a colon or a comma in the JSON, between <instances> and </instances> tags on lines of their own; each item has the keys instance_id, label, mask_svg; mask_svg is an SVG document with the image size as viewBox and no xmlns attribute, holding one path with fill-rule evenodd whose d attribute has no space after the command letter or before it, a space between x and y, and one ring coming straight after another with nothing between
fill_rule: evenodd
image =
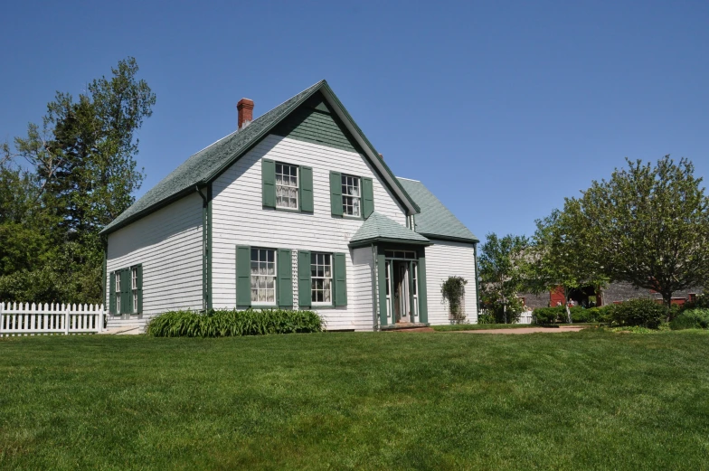
<instances>
[{"instance_id":1,"label":"white clapboard wall of the right wing, with climbing plant","mask_svg":"<svg viewBox=\"0 0 709 471\"><path fill-rule=\"evenodd\" d=\"M429 323L450 324L448 305L441 303L440 285L449 277L468 280L465 309L467 321L477 323L477 292L475 250L472 244L444 240L431 240L426 248L426 287L428 291Z\"/></svg>"}]
</instances>

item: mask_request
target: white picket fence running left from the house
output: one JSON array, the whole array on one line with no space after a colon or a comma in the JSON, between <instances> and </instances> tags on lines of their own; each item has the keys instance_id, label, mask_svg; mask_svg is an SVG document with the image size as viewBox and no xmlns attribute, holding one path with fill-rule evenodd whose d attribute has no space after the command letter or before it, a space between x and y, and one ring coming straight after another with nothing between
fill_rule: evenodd
<instances>
[{"instance_id":1,"label":"white picket fence running left from the house","mask_svg":"<svg viewBox=\"0 0 709 471\"><path fill-rule=\"evenodd\" d=\"M99 305L0 303L0 337L99 333L104 316Z\"/></svg>"}]
</instances>

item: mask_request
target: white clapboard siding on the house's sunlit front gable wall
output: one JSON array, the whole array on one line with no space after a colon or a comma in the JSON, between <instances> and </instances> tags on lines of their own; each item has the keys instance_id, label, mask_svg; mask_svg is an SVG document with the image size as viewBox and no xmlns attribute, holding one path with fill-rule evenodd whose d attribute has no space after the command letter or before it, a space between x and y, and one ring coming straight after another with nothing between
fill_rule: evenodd
<instances>
[{"instance_id":1,"label":"white clapboard siding on the house's sunlit front gable wall","mask_svg":"<svg viewBox=\"0 0 709 471\"><path fill-rule=\"evenodd\" d=\"M261 158L313 168L312 214L264 209ZM348 306L331 310L331 328L373 328L371 272L355 268L349 240L362 220L330 214L330 171L373 179L374 209L402 225L405 212L361 155L288 137L264 138L213 184L213 306L233 307L236 291L235 248L251 245L291 250L345 252ZM362 279L360 279L362 278ZM368 303L360 303L368 297ZM336 325L336 327L335 327Z\"/></svg>"}]
</instances>

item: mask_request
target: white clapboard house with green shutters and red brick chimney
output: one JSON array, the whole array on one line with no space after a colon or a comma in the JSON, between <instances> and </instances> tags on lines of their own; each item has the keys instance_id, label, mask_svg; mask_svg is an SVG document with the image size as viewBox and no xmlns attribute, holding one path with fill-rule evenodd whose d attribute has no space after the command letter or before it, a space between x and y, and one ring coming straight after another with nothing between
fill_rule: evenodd
<instances>
[{"instance_id":1,"label":"white clapboard house with green shutters and red brick chimney","mask_svg":"<svg viewBox=\"0 0 709 471\"><path fill-rule=\"evenodd\" d=\"M257 119L237 108L235 132L103 230L109 327L249 306L313 309L329 330L449 324L453 275L477 321L477 238L392 174L325 80Z\"/></svg>"}]
</instances>

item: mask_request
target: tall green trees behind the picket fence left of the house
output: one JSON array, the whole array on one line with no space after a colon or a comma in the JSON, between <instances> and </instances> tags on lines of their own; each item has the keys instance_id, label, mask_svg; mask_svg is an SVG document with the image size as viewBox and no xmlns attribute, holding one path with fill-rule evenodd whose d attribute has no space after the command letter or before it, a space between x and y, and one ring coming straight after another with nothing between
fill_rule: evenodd
<instances>
[{"instance_id":1,"label":"tall green trees behind the picket fence left of the house","mask_svg":"<svg viewBox=\"0 0 709 471\"><path fill-rule=\"evenodd\" d=\"M57 92L42 124L0 155L0 298L99 302L99 231L134 202L137 129L156 96L133 58L74 100Z\"/></svg>"}]
</instances>

